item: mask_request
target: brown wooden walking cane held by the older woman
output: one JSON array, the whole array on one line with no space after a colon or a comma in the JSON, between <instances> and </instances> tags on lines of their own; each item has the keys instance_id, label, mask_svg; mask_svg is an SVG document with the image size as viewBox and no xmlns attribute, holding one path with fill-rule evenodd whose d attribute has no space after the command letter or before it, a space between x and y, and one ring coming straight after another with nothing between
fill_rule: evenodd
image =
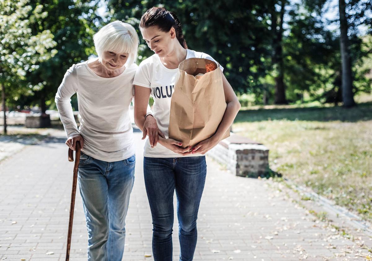
<instances>
[{"instance_id":1,"label":"brown wooden walking cane held by the older woman","mask_svg":"<svg viewBox=\"0 0 372 261\"><path fill-rule=\"evenodd\" d=\"M74 207L75 207L75 195L76 195L76 183L77 183L77 169L80 161L80 142L76 142L76 158L74 164L74 176L72 181L72 192L71 192L71 205L70 205L70 220L68 221L68 234L67 234L67 250L66 250L66 261L70 260L70 247L71 247L71 234L72 234L72 223L74 219ZM74 161L74 151L68 149L68 161Z\"/></svg>"}]
</instances>

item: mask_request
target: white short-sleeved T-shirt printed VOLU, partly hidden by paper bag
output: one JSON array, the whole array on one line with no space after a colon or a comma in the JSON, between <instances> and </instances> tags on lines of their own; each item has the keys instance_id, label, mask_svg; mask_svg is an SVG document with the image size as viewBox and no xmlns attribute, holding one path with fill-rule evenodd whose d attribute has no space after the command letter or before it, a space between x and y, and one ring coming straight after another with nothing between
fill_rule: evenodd
<instances>
[{"instance_id":1,"label":"white short-sleeved T-shirt printed VOLU, partly hidden by paper bag","mask_svg":"<svg viewBox=\"0 0 372 261\"><path fill-rule=\"evenodd\" d=\"M205 58L216 62L211 56L205 53L187 49L186 59ZM216 62L217 63L217 62ZM221 70L224 68L222 66ZM159 130L168 138L170 101L173 87L176 82L178 69L168 69L165 67L157 54L143 60L138 66L134 76L134 85L143 86L151 89L151 96L154 98L153 113L158 124ZM161 144L151 148L148 139L145 142L144 156L152 158L177 158L183 157ZM202 156L202 154L191 154L186 157Z\"/></svg>"}]
</instances>

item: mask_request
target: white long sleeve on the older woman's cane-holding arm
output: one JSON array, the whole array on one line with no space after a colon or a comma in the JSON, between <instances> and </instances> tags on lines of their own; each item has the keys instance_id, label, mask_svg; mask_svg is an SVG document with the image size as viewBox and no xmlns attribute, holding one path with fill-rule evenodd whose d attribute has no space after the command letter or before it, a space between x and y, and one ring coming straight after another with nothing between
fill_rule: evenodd
<instances>
[{"instance_id":1,"label":"white long sleeve on the older woman's cane-holding arm","mask_svg":"<svg viewBox=\"0 0 372 261\"><path fill-rule=\"evenodd\" d=\"M74 134L80 134L71 106L71 96L77 92L77 75L75 65L65 73L60 87L55 94L55 104L57 105L60 119L65 129L67 138Z\"/></svg>"}]
</instances>

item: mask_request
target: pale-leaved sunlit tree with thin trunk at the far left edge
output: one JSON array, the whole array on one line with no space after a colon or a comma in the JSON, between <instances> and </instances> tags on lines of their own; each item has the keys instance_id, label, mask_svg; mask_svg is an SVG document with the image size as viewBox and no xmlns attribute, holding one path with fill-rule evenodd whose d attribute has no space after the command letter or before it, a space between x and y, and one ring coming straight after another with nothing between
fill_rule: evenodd
<instances>
[{"instance_id":1,"label":"pale-leaved sunlit tree with thin trunk at the far left edge","mask_svg":"<svg viewBox=\"0 0 372 261\"><path fill-rule=\"evenodd\" d=\"M53 35L48 30L32 34L29 20L32 7L28 0L0 1L0 84L2 89L4 134L6 128L6 94L25 92L26 73L37 68L36 63L49 60L56 53ZM36 10L35 15L45 15Z\"/></svg>"}]
</instances>

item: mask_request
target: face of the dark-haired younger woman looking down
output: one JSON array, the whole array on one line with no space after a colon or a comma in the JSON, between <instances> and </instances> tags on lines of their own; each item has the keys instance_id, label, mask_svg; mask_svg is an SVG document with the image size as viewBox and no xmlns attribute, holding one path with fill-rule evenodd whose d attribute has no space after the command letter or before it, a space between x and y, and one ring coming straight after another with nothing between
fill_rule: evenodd
<instances>
[{"instance_id":1,"label":"face of the dark-haired younger woman looking down","mask_svg":"<svg viewBox=\"0 0 372 261\"><path fill-rule=\"evenodd\" d=\"M167 56L174 48L176 32L172 27L169 32L160 31L158 26L140 28L142 38L147 46L159 57Z\"/></svg>"}]
</instances>

